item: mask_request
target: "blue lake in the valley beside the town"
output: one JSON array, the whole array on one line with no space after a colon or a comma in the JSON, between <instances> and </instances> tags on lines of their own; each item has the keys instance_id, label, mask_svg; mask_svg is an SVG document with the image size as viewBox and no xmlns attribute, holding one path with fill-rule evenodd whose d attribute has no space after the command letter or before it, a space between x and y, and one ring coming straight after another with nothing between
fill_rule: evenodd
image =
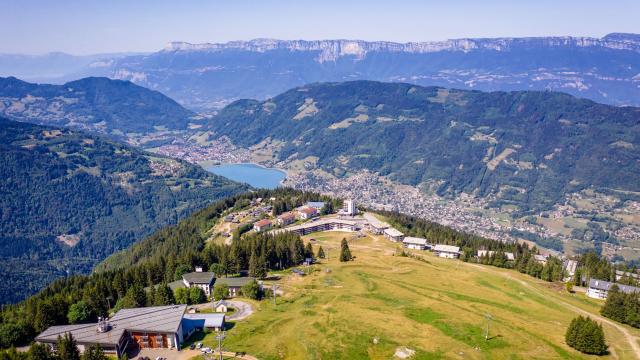
<instances>
[{"instance_id":1,"label":"blue lake in the valley beside the town","mask_svg":"<svg viewBox=\"0 0 640 360\"><path fill-rule=\"evenodd\" d=\"M265 189L277 188L287 176L282 170L263 168L254 164L222 164L208 166L205 169L216 175Z\"/></svg>"}]
</instances>

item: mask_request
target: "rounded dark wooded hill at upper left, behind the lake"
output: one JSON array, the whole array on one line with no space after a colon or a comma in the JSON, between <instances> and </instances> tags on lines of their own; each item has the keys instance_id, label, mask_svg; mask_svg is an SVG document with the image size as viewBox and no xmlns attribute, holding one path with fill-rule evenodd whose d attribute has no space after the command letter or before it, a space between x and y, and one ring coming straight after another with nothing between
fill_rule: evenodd
<instances>
[{"instance_id":1,"label":"rounded dark wooded hill at upper left, behind the lake","mask_svg":"<svg viewBox=\"0 0 640 360\"><path fill-rule=\"evenodd\" d=\"M157 91L96 77L64 85L0 78L0 115L119 137L185 130L198 119Z\"/></svg>"}]
</instances>

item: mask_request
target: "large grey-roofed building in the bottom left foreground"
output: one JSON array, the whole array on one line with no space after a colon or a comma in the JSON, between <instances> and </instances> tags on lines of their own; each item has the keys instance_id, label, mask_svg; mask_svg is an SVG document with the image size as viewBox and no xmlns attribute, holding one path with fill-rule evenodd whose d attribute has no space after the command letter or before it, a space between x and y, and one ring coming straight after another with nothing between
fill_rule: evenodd
<instances>
[{"instance_id":1,"label":"large grey-roofed building in the bottom left foreground","mask_svg":"<svg viewBox=\"0 0 640 360\"><path fill-rule=\"evenodd\" d=\"M55 348L59 336L70 333L83 352L89 346L100 345L109 354L120 357L127 347L175 348L190 334L183 326L186 305L153 306L122 309L110 319L94 324L51 326L35 340Z\"/></svg>"}]
</instances>

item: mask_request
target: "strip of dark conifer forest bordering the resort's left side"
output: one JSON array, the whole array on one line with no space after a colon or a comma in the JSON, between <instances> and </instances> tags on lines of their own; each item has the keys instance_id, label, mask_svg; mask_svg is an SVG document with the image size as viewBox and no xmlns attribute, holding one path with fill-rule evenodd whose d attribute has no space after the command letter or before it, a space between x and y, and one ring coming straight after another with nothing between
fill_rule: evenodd
<instances>
[{"instance_id":1,"label":"strip of dark conifer forest bordering the resort's left side","mask_svg":"<svg viewBox=\"0 0 640 360\"><path fill-rule=\"evenodd\" d=\"M177 225L136 243L125 252L128 254L125 258L105 262L118 263L118 266L114 265L115 269L58 279L20 304L6 306L1 317L0 339L3 342L0 347L28 343L48 326L66 324L71 319L91 321L99 315L107 315L113 308L171 301L169 296L157 295L166 290L163 284L180 278L183 272L196 265L220 276L237 274L244 269L260 276L268 269L302 263L306 257L313 256L313 249L305 247L299 236L290 233L256 234L243 237L231 246L205 246L207 231L223 213L246 207L250 199L271 196L296 198L291 201L302 203L318 195L265 190L229 197L197 211ZM116 258L119 256L122 255ZM160 286L154 288L152 285L155 284ZM153 288L155 294L150 296L144 288ZM174 297L173 300L177 299Z\"/></svg>"}]
</instances>

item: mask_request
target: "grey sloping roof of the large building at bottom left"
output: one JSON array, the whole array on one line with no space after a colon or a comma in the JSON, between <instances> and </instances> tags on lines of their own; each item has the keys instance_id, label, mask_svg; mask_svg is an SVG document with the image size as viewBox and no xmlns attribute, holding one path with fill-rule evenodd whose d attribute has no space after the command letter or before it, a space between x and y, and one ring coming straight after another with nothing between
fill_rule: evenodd
<instances>
[{"instance_id":1,"label":"grey sloping roof of the large building at bottom left","mask_svg":"<svg viewBox=\"0 0 640 360\"><path fill-rule=\"evenodd\" d=\"M125 330L175 333L186 305L122 309L108 320L110 330L98 332L98 324L51 326L36 337L40 342L56 342L59 335L71 333L79 344L117 345Z\"/></svg>"}]
</instances>

